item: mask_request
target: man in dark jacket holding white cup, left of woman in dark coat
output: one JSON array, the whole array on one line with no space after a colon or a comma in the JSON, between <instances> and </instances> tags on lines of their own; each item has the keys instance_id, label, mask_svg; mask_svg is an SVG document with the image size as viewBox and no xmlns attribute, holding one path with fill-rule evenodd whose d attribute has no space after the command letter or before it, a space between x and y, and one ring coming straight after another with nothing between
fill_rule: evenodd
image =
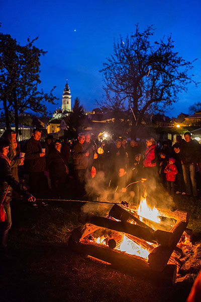
<instances>
[{"instance_id":1,"label":"man in dark jacket holding white cup, left of woman in dark coat","mask_svg":"<svg viewBox=\"0 0 201 302\"><path fill-rule=\"evenodd\" d=\"M45 197L47 182L45 179L45 152L40 142L41 130L35 128L27 141L25 160L28 164L30 192L36 197Z\"/></svg>"}]
</instances>

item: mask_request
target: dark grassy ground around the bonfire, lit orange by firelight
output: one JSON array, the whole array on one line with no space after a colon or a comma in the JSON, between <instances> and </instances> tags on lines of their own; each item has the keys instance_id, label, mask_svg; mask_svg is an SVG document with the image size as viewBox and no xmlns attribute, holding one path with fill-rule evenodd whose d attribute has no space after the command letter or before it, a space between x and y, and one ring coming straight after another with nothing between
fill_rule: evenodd
<instances>
[{"instance_id":1,"label":"dark grassy ground around the bonfire, lit orange by firelight","mask_svg":"<svg viewBox=\"0 0 201 302\"><path fill-rule=\"evenodd\" d=\"M13 204L9 246L17 261L1 265L1 301L185 301L201 266L201 200L176 196L174 202L190 211L194 237L176 284L168 287L72 252L67 240L79 225L81 203L51 201L38 209Z\"/></svg>"}]
</instances>

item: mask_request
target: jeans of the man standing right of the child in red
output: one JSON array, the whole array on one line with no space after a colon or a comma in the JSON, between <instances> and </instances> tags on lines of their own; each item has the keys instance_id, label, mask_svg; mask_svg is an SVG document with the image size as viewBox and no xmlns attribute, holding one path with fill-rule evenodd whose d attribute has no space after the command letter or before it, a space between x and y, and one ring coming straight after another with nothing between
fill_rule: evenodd
<instances>
[{"instance_id":1,"label":"jeans of the man standing right of the child in red","mask_svg":"<svg viewBox=\"0 0 201 302\"><path fill-rule=\"evenodd\" d=\"M195 179L195 164L182 164L183 179L185 183L185 190L187 195L193 194L197 196L197 183Z\"/></svg>"}]
</instances>

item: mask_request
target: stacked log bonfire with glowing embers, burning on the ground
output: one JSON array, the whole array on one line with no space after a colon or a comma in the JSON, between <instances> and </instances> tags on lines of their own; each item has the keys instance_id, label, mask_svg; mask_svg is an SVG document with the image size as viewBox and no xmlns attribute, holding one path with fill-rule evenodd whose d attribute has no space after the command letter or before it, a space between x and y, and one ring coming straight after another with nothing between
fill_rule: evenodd
<instances>
[{"instance_id":1,"label":"stacked log bonfire with glowing embers, burning on the ground","mask_svg":"<svg viewBox=\"0 0 201 302\"><path fill-rule=\"evenodd\" d=\"M142 219L140 206L130 209L123 204L115 204L108 217L80 214L84 226L73 230L69 246L126 273L174 283L182 265L182 250L177 244L182 234L188 240L191 236L186 229L188 213L156 209L167 222L160 218L153 222L150 217Z\"/></svg>"}]
</instances>

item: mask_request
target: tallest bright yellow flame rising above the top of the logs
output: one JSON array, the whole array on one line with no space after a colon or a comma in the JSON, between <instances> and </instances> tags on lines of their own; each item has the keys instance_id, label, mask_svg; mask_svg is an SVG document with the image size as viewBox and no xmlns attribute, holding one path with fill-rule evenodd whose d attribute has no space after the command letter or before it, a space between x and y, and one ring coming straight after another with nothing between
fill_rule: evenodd
<instances>
[{"instance_id":1,"label":"tallest bright yellow flame rising above the top of the logs","mask_svg":"<svg viewBox=\"0 0 201 302\"><path fill-rule=\"evenodd\" d=\"M147 218L149 220L152 220L154 222L158 222L160 223L160 218L159 218L159 211L157 210L157 208L154 206L153 208L151 208L150 206L148 206L147 204L147 200L146 200L146 195L145 197L141 197L141 201L140 201L140 205L138 207L137 213L140 217L140 220L143 221L143 217Z\"/></svg>"}]
</instances>

